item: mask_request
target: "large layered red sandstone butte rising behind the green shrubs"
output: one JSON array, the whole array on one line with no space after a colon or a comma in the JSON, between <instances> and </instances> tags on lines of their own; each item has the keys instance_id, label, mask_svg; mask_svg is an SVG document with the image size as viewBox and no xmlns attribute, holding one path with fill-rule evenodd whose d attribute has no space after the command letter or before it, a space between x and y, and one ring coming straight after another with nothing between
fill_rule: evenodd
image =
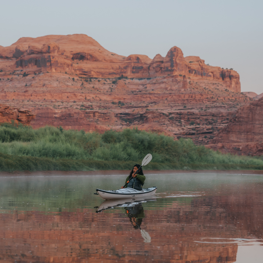
<instances>
[{"instance_id":1,"label":"large layered red sandstone butte rising behind the green shrubs","mask_svg":"<svg viewBox=\"0 0 263 263\"><path fill-rule=\"evenodd\" d=\"M104 132L134 128L211 144L236 110L233 69L206 65L172 47L121 56L84 34L24 37L0 46L0 122Z\"/></svg>"}]
</instances>

